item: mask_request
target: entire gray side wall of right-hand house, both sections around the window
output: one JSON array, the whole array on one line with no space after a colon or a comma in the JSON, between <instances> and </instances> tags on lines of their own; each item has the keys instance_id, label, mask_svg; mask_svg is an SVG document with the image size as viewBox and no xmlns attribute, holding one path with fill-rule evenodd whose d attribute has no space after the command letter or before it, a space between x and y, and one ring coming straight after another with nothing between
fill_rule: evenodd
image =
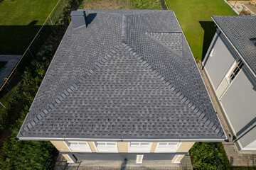
<instances>
[{"instance_id":1,"label":"entire gray side wall of right-hand house, both sections around the window","mask_svg":"<svg viewBox=\"0 0 256 170\"><path fill-rule=\"evenodd\" d=\"M235 62L236 58L238 59L238 55L230 47L222 33L219 35L218 31L215 33L215 37L203 60L203 67L215 89L215 93L241 149L255 150L256 80L244 65L235 79L227 87L224 87L222 96L218 94L217 89L220 82L225 80L225 76L228 74L233 62ZM210 57L212 49L214 49L214 52L213 56Z\"/></svg>"}]
</instances>

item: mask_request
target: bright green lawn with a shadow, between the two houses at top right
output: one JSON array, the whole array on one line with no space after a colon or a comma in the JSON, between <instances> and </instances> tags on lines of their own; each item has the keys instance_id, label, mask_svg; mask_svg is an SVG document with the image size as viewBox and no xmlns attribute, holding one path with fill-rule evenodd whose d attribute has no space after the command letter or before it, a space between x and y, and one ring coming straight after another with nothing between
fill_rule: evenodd
<instances>
[{"instance_id":1,"label":"bright green lawn with a shadow, between the two houses at top right","mask_svg":"<svg viewBox=\"0 0 256 170\"><path fill-rule=\"evenodd\" d=\"M166 0L174 10L196 59L202 60L215 33L210 16L235 16L223 0Z\"/></svg>"}]
</instances>

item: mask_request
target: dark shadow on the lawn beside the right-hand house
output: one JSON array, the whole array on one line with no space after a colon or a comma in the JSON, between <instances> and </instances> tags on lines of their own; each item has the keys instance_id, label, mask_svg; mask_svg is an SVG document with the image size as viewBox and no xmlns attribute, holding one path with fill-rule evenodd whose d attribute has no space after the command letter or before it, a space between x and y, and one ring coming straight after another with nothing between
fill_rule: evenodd
<instances>
[{"instance_id":1,"label":"dark shadow on the lawn beside the right-hand house","mask_svg":"<svg viewBox=\"0 0 256 170\"><path fill-rule=\"evenodd\" d=\"M213 40L213 36L216 32L215 23L213 21L199 21L201 27L204 30L203 35L203 52L202 52L202 61L206 56L206 52L210 46L210 42Z\"/></svg>"}]
</instances>

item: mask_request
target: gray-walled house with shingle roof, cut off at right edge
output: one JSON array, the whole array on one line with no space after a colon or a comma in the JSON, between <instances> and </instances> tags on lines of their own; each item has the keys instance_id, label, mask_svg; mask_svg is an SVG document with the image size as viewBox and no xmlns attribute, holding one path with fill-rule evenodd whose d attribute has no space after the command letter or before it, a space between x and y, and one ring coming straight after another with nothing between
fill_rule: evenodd
<instances>
[{"instance_id":1,"label":"gray-walled house with shingle roof, cut off at right edge","mask_svg":"<svg viewBox=\"0 0 256 170\"><path fill-rule=\"evenodd\" d=\"M212 16L203 69L242 151L256 151L256 16Z\"/></svg>"}]
</instances>

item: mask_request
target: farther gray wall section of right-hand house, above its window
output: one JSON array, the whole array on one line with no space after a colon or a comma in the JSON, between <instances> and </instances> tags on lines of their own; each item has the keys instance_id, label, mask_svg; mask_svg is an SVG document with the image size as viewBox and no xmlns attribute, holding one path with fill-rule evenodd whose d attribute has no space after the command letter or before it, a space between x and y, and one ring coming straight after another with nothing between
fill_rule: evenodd
<instances>
[{"instance_id":1,"label":"farther gray wall section of right-hand house, above its window","mask_svg":"<svg viewBox=\"0 0 256 170\"><path fill-rule=\"evenodd\" d=\"M231 51L228 49L226 43L223 41L222 35L215 33L213 38L213 46L209 48L208 57L205 57L203 64L205 70L213 84L214 89L218 88L220 81L223 80L225 74L230 69L231 64L235 61ZM210 51L214 49L213 56L210 57Z\"/></svg>"}]
</instances>

